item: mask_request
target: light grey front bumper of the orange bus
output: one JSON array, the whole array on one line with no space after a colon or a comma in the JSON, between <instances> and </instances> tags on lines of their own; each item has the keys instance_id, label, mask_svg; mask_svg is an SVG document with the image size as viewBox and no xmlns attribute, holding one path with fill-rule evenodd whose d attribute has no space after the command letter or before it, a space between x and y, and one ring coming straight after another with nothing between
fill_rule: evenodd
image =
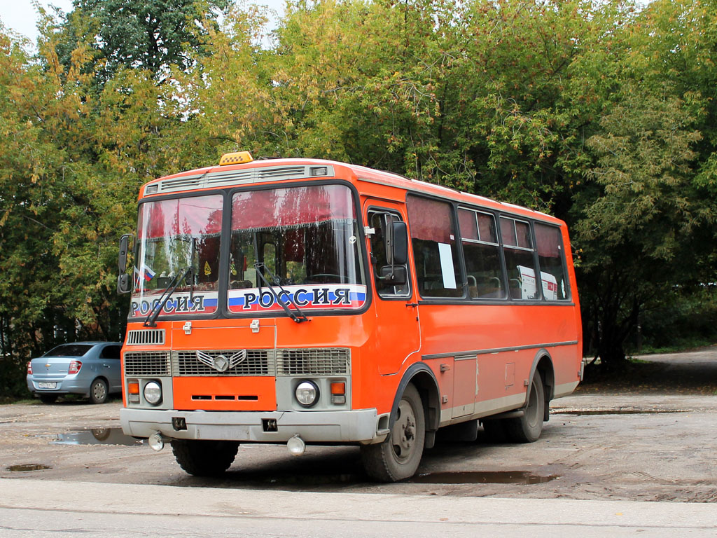
<instances>
[{"instance_id":1,"label":"light grey front bumper of the orange bus","mask_svg":"<svg viewBox=\"0 0 717 538\"><path fill-rule=\"evenodd\" d=\"M175 430L173 418L184 418L186 430ZM148 438L160 432L166 438L235 440L254 443L285 443L295 435L306 443L377 443L386 432L377 433L375 409L353 411L175 411L152 409L120 410L126 435ZM265 431L267 420L276 421L276 431Z\"/></svg>"}]
</instances>

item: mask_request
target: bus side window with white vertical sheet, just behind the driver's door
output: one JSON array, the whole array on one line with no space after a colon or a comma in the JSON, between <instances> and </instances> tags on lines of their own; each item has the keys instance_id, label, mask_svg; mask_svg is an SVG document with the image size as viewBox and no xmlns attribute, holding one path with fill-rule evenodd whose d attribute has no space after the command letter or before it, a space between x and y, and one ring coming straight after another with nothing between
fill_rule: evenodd
<instances>
[{"instance_id":1,"label":"bus side window with white vertical sheet, just behind the driver's door","mask_svg":"<svg viewBox=\"0 0 717 538\"><path fill-rule=\"evenodd\" d=\"M407 207L419 293L432 298L462 297L451 205L411 195Z\"/></svg>"}]
</instances>

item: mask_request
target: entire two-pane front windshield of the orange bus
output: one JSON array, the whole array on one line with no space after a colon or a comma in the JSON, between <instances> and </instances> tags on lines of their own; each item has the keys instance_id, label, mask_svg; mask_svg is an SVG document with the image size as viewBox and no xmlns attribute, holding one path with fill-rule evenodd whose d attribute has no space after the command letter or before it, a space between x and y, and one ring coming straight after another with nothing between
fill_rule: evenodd
<instances>
[{"instance_id":1,"label":"entire two-pane front windshield of the orange bus","mask_svg":"<svg viewBox=\"0 0 717 538\"><path fill-rule=\"evenodd\" d=\"M222 194L141 204L130 315L148 316L175 285L159 316L215 313L223 292L230 314L284 315L278 298L300 311L360 308L366 285L351 189L242 191L227 207Z\"/></svg>"}]
</instances>

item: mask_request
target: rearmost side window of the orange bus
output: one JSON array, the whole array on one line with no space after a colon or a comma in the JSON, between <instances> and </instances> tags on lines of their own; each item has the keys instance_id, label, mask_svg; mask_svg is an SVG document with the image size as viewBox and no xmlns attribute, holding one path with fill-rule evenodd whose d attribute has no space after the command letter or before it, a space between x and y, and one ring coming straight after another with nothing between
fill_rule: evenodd
<instances>
[{"instance_id":1,"label":"rearmost side window of the orange bus","mask_svg":"<svg viewBox=\"0 0 717 538\"><path fill-rule=\"evenodd\" d=\"M563 237L560 228L536 222L535 232L543 297L548 301L564 301L570 296L570 285L565 275Z\"/></svg>"}]
</instances>

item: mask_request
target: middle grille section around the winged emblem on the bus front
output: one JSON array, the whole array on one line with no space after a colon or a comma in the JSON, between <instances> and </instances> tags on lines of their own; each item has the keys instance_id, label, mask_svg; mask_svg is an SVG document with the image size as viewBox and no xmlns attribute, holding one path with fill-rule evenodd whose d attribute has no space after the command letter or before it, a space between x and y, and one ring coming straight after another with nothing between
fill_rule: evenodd
<instances>
[{"instance_id":1,"label":"middle grille section around the winged emblem on the bus front","mask_svg":"<svg viewBox=\"0 0 717 538\"><path fill-rule=\"evenodd\" d=\"M209 350L203 349L202 353L210 357L232 357L238 349ZM242 362L227 369L226 372L218 372L216 369L204 364L197 357L196 351L174 351L172 353L172 369L175 375L201 375L201 376L273 376L274 350L273 349L247 349L247 358Z\"/></svg>"}]
</instances>

